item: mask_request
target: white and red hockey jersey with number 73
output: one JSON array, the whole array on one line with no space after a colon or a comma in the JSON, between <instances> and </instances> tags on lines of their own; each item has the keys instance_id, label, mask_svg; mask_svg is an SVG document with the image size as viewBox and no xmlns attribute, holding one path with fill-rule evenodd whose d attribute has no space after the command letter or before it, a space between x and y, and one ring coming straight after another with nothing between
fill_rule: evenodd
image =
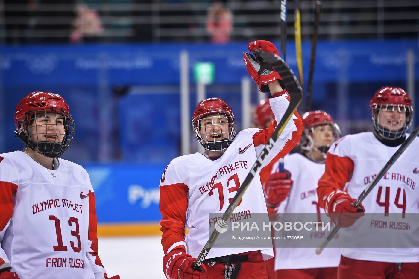
<instances>
[{"instance_id":1,"label":"white and red hockey jersey with number 73","mask_svg":"<svg viewBox=\"0 0 419 279\"><path fill-rule=\"evenodd\" d=\"M287 94L271 98L270 104L278 121L289 105ZM160 212L163 215L160 225L165 253L183 246L192 256L199 255L215 226L209 220L209 213L225 212L275 127L276 121L273 121L266 130L249 128L241 131L217 160L195 153L169 163L160 181ZM265 162L270 162L278 154L280 157L286 155L300 140L302 128L300 116L295 112ZM233 215L253 212L266 212L259 171ZM185 228L189 230L186 238ZM207 258L259 250L264 259L273 256L272 248L213 247Z\"/></svg>"}]
</instances>

